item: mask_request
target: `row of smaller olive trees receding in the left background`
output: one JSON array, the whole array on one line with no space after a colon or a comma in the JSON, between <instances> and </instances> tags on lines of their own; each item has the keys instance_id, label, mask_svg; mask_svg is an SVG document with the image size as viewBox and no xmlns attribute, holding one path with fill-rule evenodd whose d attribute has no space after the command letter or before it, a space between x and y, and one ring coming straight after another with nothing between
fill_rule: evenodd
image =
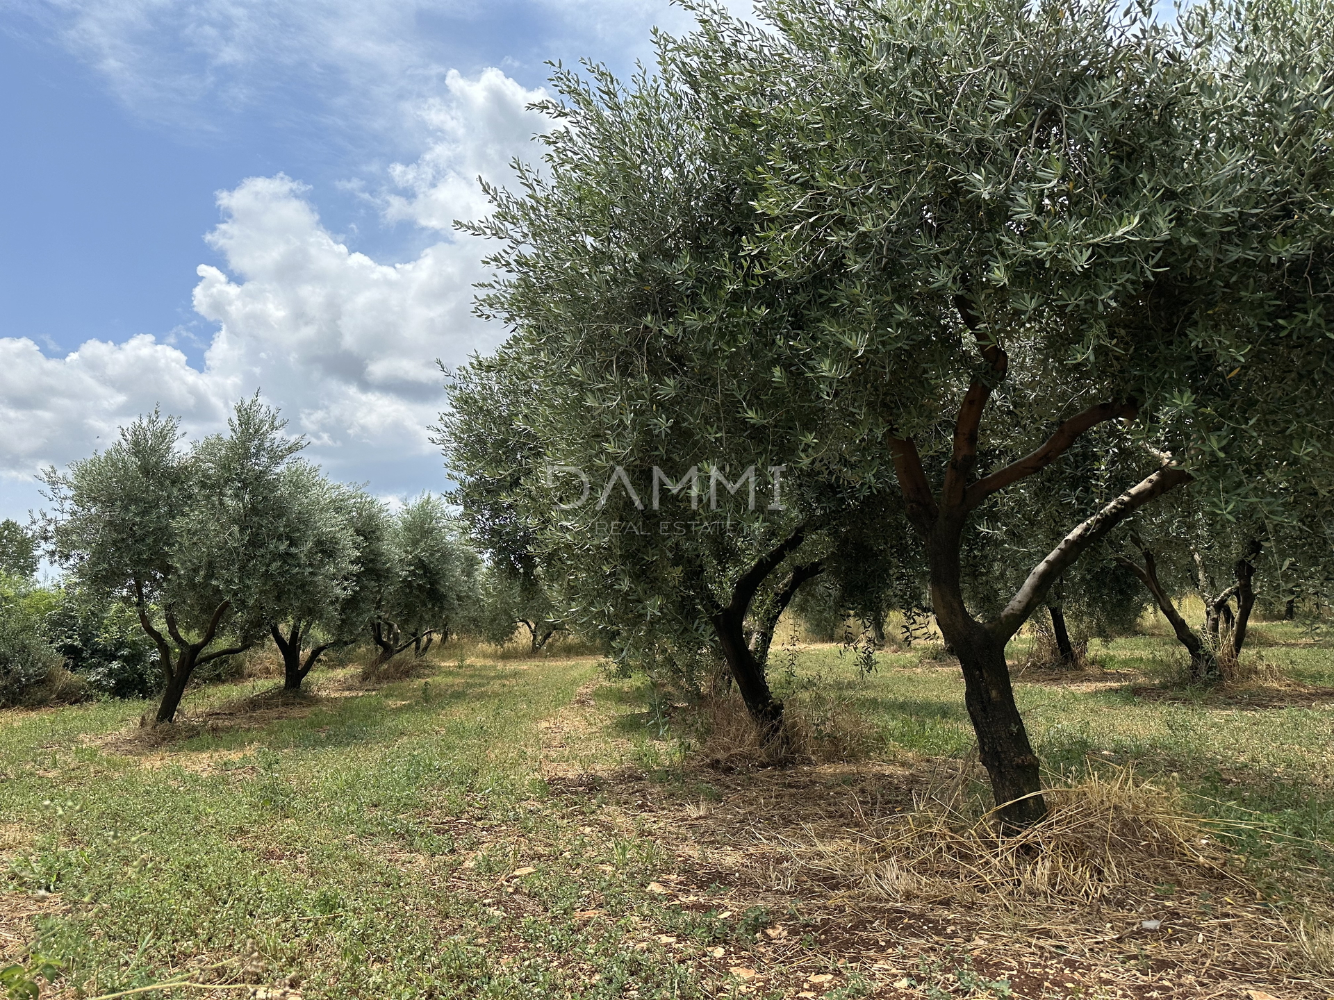
<instances>
[{"instance_id":1,"label":"row of smaller olive trees receding in the left background","mask_svg":"<svg viewBox=\"0 0 1334 1000\"><path fill-rule=\"evenodd\" d=\"M374 637L388 657L455 624L476 557L438 500L392 513L331 483L257 397L227 433L181 439L179 420L153 412L44 476L51 557L72 585L132 609L156 649L157 723L200 667L265 636L295 689L329 649Z\"/></svg>"}]
</instances>

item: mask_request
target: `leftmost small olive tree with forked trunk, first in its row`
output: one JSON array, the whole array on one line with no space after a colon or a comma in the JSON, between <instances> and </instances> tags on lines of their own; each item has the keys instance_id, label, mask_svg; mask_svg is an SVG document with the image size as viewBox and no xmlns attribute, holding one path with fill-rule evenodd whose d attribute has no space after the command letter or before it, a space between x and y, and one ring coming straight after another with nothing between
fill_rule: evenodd
<instances>
[{"instance_id":1,"label":"leftmost small olive tree with forked trunk, first in its row","mask_svg":"<svg viewBox=\"0 0 1334 1000\"><path fill-rule=\"evenodd\" d=\"M243 652L293 573L288 471L301 440L257 397L228 433L181 448L180 423L153 412L107 451L44 475L52 557L93 595L125 601L163 675L156 721L169 723L195 671Z\"/></svg>"}]
</instances>

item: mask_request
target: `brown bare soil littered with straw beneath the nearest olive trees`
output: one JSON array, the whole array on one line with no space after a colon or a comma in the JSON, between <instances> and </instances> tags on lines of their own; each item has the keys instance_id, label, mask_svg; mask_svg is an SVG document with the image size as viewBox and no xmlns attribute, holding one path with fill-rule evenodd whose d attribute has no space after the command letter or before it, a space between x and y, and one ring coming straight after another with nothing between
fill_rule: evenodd
<instances>
[{"instance_id":1,"label":"brown bare soil littered with straw beneath the nearest olive trees","mask_svg":"<svg viewBox=\"0 0 1334 1000\"><path fill-rule=\"evenodd\" d=\"M550 729L560 731L564 717ZM587 715L571 717L576 728L592 725ZM578 739L576 729L563 739ZM931 760L694 767L671 781L632 768L547 772L571 811L590 797L603 803L595 821L608 836L658 841L670 860L648 888L670 909L756 916L754 945L716 948L703 960L676 943L674 921L646 929L656 947L680 948L715 993L823 997L854 987L876 997L1157 1000L1261 991L1325 1000L1334 991L1303 961L1295 928L1258 896L1238 859L1207 836L1165 843L1178 827L1179 836L1197 832L1191 817L1139 823L1111 803L1118 836L1130 837L1126 855L1113 857L1123 867L1115 877L1098 868L1099 857L1107 865L1098 844L1089 845L1093 860L1082 860L1086 831L1077 831L1074 851L1057 852L1070 871L1049 864L1030 877L1041 856L990 871L992 861L963 840L954 853L938 849L960 835L932 827L922 809L966 777L958 761ZM1139 827L1146 840L1135 855ZM931 877L920 877L931 865Z\"/></svg>"}]
</instances>

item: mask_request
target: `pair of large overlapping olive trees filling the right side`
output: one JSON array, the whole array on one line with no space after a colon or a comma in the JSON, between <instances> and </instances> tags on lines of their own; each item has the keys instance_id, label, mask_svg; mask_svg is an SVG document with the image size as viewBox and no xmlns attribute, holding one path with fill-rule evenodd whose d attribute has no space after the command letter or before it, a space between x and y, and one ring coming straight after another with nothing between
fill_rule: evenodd
<instances>
[{"instance_id":1,"label":"pair of large overlapping olive trees filling the right side","mask_svg":"<svg viewBox=\"0 0 1334 1000\"><path fill-rule=\"evenodd\" d=\"M723 659L775 736L794 587L928 605L1030 823L1009 639L1163 495L1277 517L1334 441L1331 7L756 8L699 9L630 85L558 73L544 169L468 227L511 337L458 375L447 461L567 620ZM748 468L782 500L682 485Z\"/></svg>"}]
</instances>

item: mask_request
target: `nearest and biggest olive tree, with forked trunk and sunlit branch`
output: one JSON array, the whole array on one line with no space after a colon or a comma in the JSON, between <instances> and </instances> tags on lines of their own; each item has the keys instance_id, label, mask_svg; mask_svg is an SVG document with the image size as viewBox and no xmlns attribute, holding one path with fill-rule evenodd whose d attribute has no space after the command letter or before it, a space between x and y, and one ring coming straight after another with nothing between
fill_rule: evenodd
<instances>
[{"instance_id":1,"label":"nearest and biggest olive tree, with forked trunk and sunlit branch","mask_svg":"<svg viewBox=\"0 0 1334 1000\"><path fill-rule=\"evenodd\" d=\"M775 35L704 32L728 55L700 80L772 144L763 259L819 289L808 371L891 387L876 417L982 763L1005 819L1031 821L1007 640L1167 491L1262 496L1329 448L1327 64L1221 40L1225 8L1179 35L1147 5L763 9ZM1109 449L1105 495L979 619L971 525L1086 436L1130 445Z\"/></svg>"}]
</instances>

